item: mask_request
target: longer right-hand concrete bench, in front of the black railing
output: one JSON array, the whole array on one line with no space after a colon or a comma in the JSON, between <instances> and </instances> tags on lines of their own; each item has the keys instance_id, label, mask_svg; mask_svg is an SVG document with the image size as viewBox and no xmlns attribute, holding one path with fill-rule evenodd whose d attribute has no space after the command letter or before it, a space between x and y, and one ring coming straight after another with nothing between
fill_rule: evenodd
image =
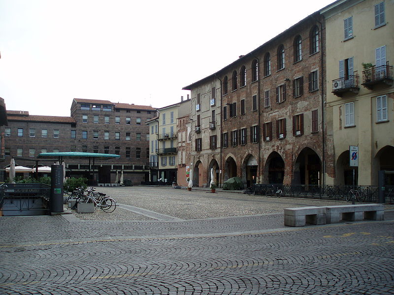
<instances>
[{"instance_id":1,"label":"longer right-hand concrete bench, in front of the black railing","mask_svg":"<svg viewBox=\"0 0 394 295\"><path fill-rule=\"evenodd\" d=\"M326 207L327 223L337 223L341 220L360 221L364 219L384 220L384 206L358 204Z\"/></svg>"}]
</instances>

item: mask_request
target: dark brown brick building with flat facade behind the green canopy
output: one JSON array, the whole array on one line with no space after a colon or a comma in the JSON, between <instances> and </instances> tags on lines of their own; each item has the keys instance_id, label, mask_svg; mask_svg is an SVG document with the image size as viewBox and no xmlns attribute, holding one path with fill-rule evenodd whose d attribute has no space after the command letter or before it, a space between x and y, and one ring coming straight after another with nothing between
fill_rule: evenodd
<instances>
[{"instance_id":1,"label":"dark brown brick building with flat facade behind the green canopy","mask_svg":"<svg viewBox=\"0 0 394 295\"><path fill-rule=\"evenodd\" d=\"M66 160L67 176L84 176L95 183L113 182L116 171L134 183L148 177L149 130L145 121L156 109L106 100L75 98L71 117L35 116L26 111L7 111L5 157L35 160L42 152L81 151L119 154L119 159L96 161L89 176L88 161ZM32 161L17 159L23 166ZM86 162L86 163L84 163ZM9 164L6 159L3 166Z\"/></svg>"}]
</instances>

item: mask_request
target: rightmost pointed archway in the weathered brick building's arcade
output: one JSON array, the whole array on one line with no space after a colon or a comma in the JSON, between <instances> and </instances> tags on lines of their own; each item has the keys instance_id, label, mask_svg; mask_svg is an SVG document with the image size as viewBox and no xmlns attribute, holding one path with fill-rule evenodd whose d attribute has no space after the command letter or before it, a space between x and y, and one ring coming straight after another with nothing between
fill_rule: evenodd
<instances>
[{"instance_id":1,"label":"rightmost pointed archway in the weathered brick building's arcade","mask_svg":"<svg viewBox=\"0 0 394 295\"><path fill-rule=\"evenodd\" d=\"M309 147L303 148L293 165L293 184L320 185L322 163L319 155Z\"/></svg>"}]
</instances>

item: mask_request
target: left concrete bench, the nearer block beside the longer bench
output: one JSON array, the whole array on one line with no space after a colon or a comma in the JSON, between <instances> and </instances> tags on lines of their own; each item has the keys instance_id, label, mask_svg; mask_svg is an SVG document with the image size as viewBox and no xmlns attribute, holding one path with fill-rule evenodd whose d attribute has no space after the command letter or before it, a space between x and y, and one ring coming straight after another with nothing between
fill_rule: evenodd
<instances>
[{"instance_id":1,"label":"left concrete bench, the nearer block beside the longer bench","mask_svg":"<svg viewBox=\"0 0 394 295\"><path fill-rule=\"evenodd\" d=\"M305 226L326 224L326 207L299 207L285 209L285 225Z\"/></svg>"}]
</instances>

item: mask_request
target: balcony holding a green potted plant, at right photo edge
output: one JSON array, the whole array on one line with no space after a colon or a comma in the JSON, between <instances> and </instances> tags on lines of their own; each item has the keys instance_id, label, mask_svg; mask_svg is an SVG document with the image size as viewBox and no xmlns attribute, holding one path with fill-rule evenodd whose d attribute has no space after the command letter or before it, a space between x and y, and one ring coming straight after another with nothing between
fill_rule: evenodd
<instances>
[{"instance_id":1,"label":"balcony holding a green potted plant, at right photo edge","mask_svg":"<svg viewBox=\"0 0 394 295\"><path fill-rule=\"evenodd\" d=\"M366 89L372 90L375 86L393 85L393 66L380 65L371 67L362 72L362 84Z\"/></svg>"}]
</instances>

